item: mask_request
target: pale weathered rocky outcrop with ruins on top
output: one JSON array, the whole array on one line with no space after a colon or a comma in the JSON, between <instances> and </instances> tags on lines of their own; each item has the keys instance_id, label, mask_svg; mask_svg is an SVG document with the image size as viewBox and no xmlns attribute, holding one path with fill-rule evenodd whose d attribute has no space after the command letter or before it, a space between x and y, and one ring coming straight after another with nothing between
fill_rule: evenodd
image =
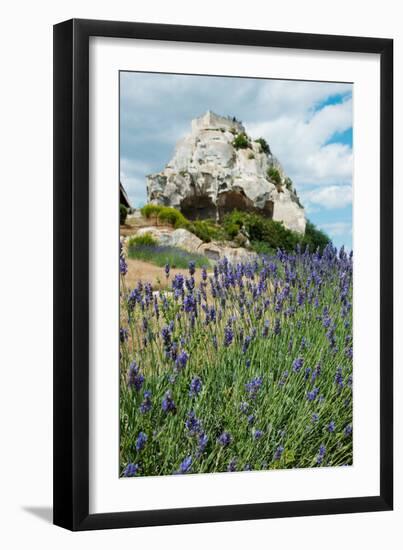
<instances>
[{"instance_id":1,"label":"pale weathered rocky outcrop with ruins on top","mask_svg":"<svg viewBox=\"0 0 403 550\"><path fill-rule=\"evenodd\" d=\"M251 140L239 121L211 111L192 121L165 169L147 177L147 194L149 202L178 208L189 219L247 210L305 232L304 209L267 144Z\"/></svg>"}]
</instances>

